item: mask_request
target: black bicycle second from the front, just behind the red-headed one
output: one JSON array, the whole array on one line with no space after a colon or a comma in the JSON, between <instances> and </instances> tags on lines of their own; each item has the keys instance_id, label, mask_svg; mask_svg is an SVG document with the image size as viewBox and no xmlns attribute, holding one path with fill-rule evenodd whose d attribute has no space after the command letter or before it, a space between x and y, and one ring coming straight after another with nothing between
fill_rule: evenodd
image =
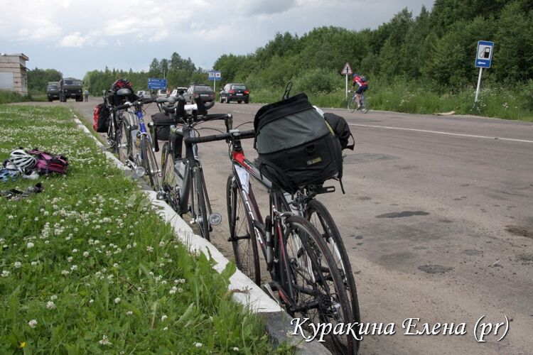
<instances>
[{"instance_id":1,"label":"black bicycle second from the front, just behind the red-headed one","mask_svg":"<svg viewBox=\"0 0 533 355\"><path fill-rule=\"evenodd\" d=\"M158 100L158 103L174 100ZM158 126L169 126L170 134L168 141L163 144L161 152L161 189L158 197L166 200L171 207L183 216L190 212L191 223L198 225L200 235L210 240L210 231L213 225L222 222L222 216L213 213L205 185L202 164L198 158L198 146L192 144L185 146L185 158L181 158L181 143L183 137L195 137L195 126L206 121L224 119L226 131L232 127L232 114L207 114L203 102L196 100L196 105L187 105L184 100L178 100L178 107L164 107L163 111L171 114L174 118L172 123L150 125L151 132L157 131ZM178 128L181 126L181 128ZM154 142L157 142L154 136ZM158 151L156 143L156 151Z\"/></svg>"}]
</instances>

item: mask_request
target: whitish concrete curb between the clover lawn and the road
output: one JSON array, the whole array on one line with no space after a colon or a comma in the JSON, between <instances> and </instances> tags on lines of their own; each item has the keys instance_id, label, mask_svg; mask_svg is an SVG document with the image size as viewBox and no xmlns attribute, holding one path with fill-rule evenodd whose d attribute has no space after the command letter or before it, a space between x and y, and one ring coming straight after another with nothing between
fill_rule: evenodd
<instances>
[{"instance_id":1,"label":"whitish concrete curb between the clover lawn and the road","mask_svg":"<svg viewBox=\"0 0 533 355\"><path fill-rule=\"evenodd\" d=\"M72 111L72 110L70 110ZM87 129L87 127L74 115L77 126L85 131L85 133L92 137L97 146L102 148L104 154L112 161L118 168L124 170L126 175L131 175L131 169L126 167L120 160L112 153L105 150L104 145ZM140 180L140 179L139 179ZM220 251L206 239L193 233L193 229L185 222L166 202L157 199L157 193L151 190L151 187L146 185L144 181L143 189L146 197L151 204L157 207L159 216L173 227L176 238L182 244L188 246L190 251L194 253L204 253L205 256L215 261L213 268L218 273L221 273L230 261L220 253ZM295 337L290 333L294 331L291 327L292 318L278 303L271 299L269 295L259 288L247 275L237 270L230 278L230 285L228 286L232 297L235 301L247 307L252 312L259 314L266 323L266 332L271 338L272 344L278 346L283 342L288 342L296 347L297 352L301 354L330 354L328 349L319 342L305 342L301 337Z\"/></svg>"}]
</instances>

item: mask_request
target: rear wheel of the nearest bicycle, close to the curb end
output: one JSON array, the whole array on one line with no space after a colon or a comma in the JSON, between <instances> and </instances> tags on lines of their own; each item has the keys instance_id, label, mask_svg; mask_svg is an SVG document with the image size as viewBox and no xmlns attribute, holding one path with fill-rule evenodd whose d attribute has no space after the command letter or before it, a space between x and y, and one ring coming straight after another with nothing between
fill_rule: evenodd
<instances>
[{"instance_id":1,"label":"rear wheel of the nearest bicycle, close to the curb end","mask_svg":"<svg viewBox=\"0 0 533 355\"><path fill-rule=\"evenodd\" d=\"M308 318L307 324L353 322L350 301L333 256L316 228L307 219L291 216L285 220L286 266L294 290L293 317ZM307 325L306 324L306 325ZM340 354L355 354L352 334L325 335L326 346Z\"/></svg>"}]
</instances>

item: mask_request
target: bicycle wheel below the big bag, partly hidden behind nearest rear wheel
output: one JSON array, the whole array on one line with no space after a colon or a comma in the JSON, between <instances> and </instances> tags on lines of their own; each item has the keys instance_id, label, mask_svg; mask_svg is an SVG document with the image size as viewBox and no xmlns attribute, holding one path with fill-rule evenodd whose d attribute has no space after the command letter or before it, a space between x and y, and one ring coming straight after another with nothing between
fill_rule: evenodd
<instances>
[{"instance_id":1,"label":"bicycle wheel below the big bag, partly hidden behind nearest rear wheel","mask_svg":"<svg viewBox=\"0 0 533 355\"><path fill-rule=\"evenodd\" d=\"M337 225L331 217L330 212L318 200L311 200L306 205L305 210L306 219L313 224L319 234L321 234L323 241L328 246L335 266L340 274L340 279L343 281L346 293L350 298L350 306L352 307L352 316L354 322L360 322L361 316L359 311L359 300L357 299L357 288L355 287L355 280L353 278L352 267L350 266L350 259L343 239L340 236ZM355 348L359 347L359 342L354 340Z\"/></svg>"}]
</instances>

